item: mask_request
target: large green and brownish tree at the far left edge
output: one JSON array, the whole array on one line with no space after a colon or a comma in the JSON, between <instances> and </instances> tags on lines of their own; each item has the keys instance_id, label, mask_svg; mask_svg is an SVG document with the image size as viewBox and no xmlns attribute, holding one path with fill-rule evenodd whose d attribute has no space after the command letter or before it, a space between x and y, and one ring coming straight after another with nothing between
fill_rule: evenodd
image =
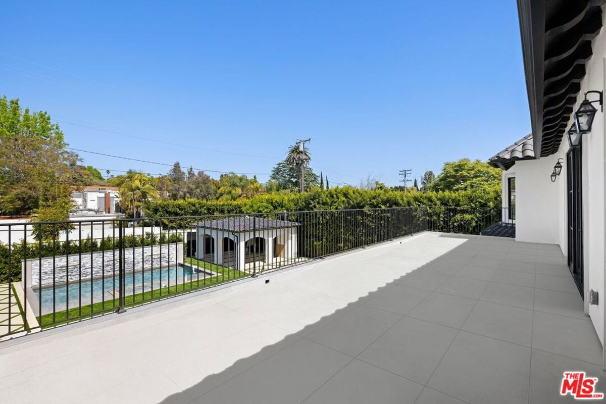
<instances>
[{"instance_id":1,"label":"large green and brownish tree at the far left edge","mask_svg":"<svg viewBox=\"0 0 606 404\"><path fill-rule=\"evenodd\" d=\"M63 207L61 217L68 216L70 185L90 177L66 146L47 113L0 98L0 214L36 213L41 204L56 203Z\"/></svg>"}]
</instances>

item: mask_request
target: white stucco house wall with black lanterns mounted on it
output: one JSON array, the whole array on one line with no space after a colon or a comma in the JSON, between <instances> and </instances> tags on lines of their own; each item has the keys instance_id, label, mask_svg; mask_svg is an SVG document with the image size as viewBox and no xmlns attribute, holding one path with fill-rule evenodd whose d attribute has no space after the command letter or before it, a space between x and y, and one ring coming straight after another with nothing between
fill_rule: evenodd
<instances>
[{"instance_id":1,"label":"white stucco house wall with black lanterns mounted on it","mask_svg":"<svg viewBox=\"0 0 606 404\"><path fill-rule=\"evenodd\" d=\"M603 13L606 27L606 13ZM606 28L593 40L593 57L587 64L587 74L581 82L581 91L574 105L579 108L584 93L605 91L606 82ZM596 94L593 94L595 97ZM592 100L594 98L591 98ZM583 197L583 254L585 296L590 289L598 291L598 305L589 305L585 298L585 313L591 319L596 333L604 344L605 287L605 230L606 230L606 119L598 108L591 133L582 139L582 197ZM568 122L568 128L571 121ZM516 240L539 243L557 243L567 251L567 184L566 154L569 145L564 134L558 153L539 160L516 163ZM564 159L562 174L554 184L549 175L558 158Z\"/></svg>"}]
</instances>

